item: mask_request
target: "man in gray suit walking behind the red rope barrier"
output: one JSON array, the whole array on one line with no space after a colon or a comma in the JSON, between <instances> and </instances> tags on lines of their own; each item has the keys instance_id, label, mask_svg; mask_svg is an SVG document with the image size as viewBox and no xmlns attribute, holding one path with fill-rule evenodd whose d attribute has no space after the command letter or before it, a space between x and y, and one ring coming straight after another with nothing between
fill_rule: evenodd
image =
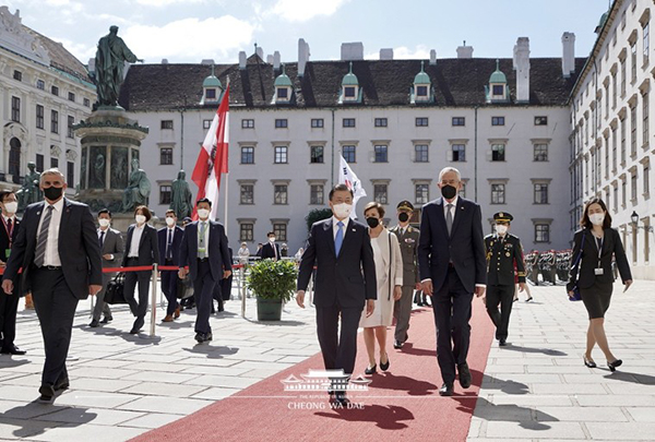
<instances>
[{"instance_id":1,"label":"man in gray suit walking behind the red rope barrier","mask_svg":"<svg viewBox=\"0 0 655 442\"><path fill-rule=\"evenodd\" d=\"M123 255L123 243L120 231L112 229L111 224L111 212L108 208L103 208L98 212L98 244L100 246L100 252L103 253L103 268L104 267L116 267L122 262ZM93 309L93 320L90 327L95 328L100 324L109 323L111 318L111 309L109 304L105 302L105 291L107 290L107 283L114 273L103 273L103 289L96 295L96 304ZM100 314L105 314L105 318L100 321Z\"/></svg>"}]
</instances>

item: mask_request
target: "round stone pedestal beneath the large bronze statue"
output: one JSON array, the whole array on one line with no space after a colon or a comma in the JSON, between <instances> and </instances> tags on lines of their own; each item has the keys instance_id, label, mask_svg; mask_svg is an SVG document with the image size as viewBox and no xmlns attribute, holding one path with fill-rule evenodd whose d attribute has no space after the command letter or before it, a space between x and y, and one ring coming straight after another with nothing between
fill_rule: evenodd
<instances>
[{"instance_id":1,"label":"round stone pedestal beneath the large bronze statue","mask_svg":"<svg viewBox=\"0 0 655 442\"><path fill-rule=\"evenodd\" d=\"M82 144L78 200L94 212L107 207L114 214L120 213L130 165L139 159L141 141L148 129L128 118L120 107L100 107L74 130ZM128 215L133 219L132 214Z\"/></svg>"}]
</instances>

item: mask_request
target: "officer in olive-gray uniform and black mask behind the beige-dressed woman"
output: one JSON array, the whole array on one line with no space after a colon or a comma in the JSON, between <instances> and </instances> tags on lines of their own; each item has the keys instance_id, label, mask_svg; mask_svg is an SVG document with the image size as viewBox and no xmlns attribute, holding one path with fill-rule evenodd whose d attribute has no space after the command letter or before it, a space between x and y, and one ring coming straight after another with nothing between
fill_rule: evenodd
<instances>
[{"instance_id":1,"label":"officer in olive-gray uniform and black mask behind the beige-dressed woman","mask_svg":"<svg viewBox=\"0 0 655 442\"><path fill-rule=\"evenodd\" d=\"M398 349L407 341L409 330L409 316L412 314L412 299L414 290L420 289L418 278L418 235L419 230L409 225L409 218L414 213L414 206L409 201L401 201L396 206L398 225L391 228L401 244L401 256L403 258L403 296L395 301L393 315L396 320L395 339L393 347Z\"/></svg>"}]
</instances>

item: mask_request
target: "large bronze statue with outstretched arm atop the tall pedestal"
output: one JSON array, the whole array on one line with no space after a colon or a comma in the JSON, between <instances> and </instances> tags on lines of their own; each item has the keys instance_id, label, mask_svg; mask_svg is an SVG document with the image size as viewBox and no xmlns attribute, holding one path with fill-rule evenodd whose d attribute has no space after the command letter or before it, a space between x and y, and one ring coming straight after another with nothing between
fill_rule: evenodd
<instances>
[{"instance_id":1,"label":"large bronze statue with outstretched arm atop the tall pedestal","mask_svg":"<svg viewBox=\"0 0 655 442\"><path fill-rule=\"evenodd\" d=\"M111 26L109 34L98 41L95 58L95 81L99 106L118 106L118 94L123 82L123 65L138 59L118 35L118 26Z\"/></svg>"}]
</instances>

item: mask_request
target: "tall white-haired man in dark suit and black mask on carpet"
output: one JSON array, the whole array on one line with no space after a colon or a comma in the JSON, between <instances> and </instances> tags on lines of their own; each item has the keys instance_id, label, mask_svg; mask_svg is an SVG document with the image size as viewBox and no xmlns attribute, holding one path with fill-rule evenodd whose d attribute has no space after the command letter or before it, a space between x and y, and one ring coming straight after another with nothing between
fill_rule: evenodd
<instances>
[{"instance_id":1,"label":"tall white-haired man in dark suit and black mask on carpet","mask_svg":"<svg viewBox=\"0 0 655 442\"><path fill-rule=\"evenodd\" d=\"M440 198L422 208L418 246L422 289L432 297L437 360L442 396L453 395L455 367L463 389L471 386L466 363L473 292L485 294L487 265L480 206L457 196L462 176L453 167L439 174Z\"/></svg>"}]
</instances>

